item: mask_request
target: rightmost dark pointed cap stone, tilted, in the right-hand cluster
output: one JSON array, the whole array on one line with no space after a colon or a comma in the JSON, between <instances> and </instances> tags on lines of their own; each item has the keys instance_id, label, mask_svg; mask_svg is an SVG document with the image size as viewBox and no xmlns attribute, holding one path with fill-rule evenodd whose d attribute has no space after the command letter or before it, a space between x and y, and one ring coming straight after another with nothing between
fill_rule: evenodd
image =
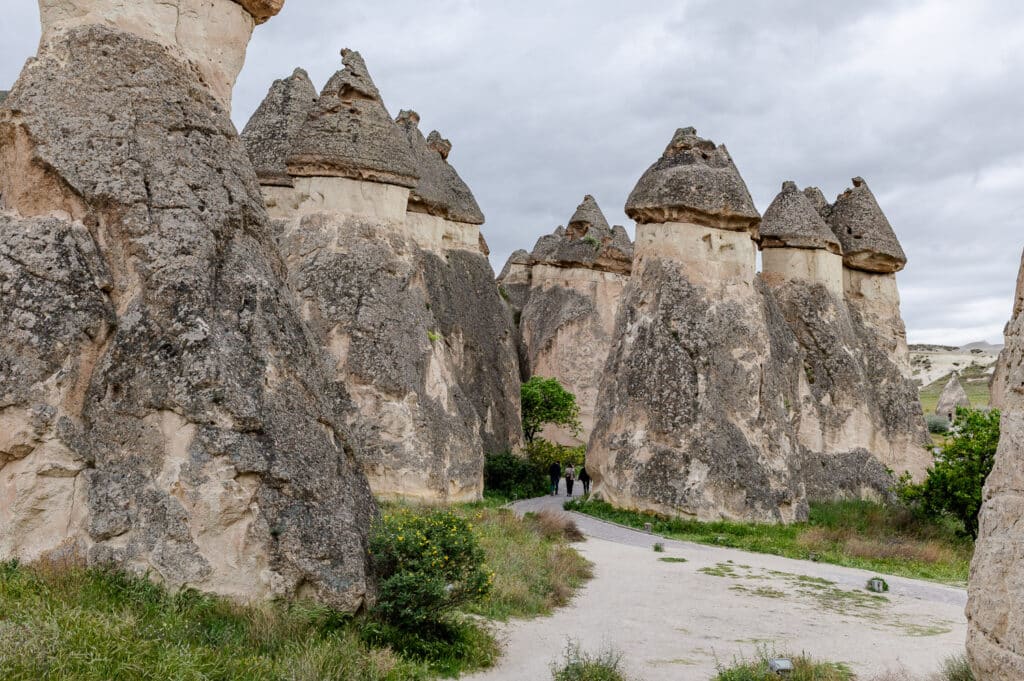
<instances>
[{"instance_id":1,"label":"rightmost dark pointed cap stone, tilted, in the right-hand cluster","mask_svg":"<svg viewBox=\"0 0 1024 681\"><path fill-rule=\"evenodd\" d=\"M829 226L843 245L843 264L869 272L897 272L906 255L879 202L860 177L833 204Z\"/></svg>"}]
</instances>

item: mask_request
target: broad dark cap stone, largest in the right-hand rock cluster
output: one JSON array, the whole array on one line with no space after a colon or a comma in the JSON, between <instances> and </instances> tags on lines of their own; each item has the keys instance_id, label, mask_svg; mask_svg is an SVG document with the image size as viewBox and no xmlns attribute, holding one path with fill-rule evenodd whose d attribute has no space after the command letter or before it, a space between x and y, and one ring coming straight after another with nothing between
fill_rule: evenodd
<instances>
[{"instance_id":1,"label":"broad dark cap stone, largest in the right-hand rock cluster","mask_svg":"<svg viewBox=\"0 0 1024 681\"><path fill-rule=\"evenodd\" d=\"M680 128L626 202L637 222L692 222L757 231L761 216L724 144Z\"/></svg>"}]
</instances>

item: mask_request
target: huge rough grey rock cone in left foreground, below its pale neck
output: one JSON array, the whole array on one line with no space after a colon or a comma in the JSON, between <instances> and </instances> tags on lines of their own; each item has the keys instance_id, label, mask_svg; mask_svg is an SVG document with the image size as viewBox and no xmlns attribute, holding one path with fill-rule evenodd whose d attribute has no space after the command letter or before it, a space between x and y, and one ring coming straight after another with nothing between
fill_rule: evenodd
<instances>
[{"instance_id":1,"label":"huge rough grey rock cone in left foreground, below its pale neck","mask_svg":"<svg viewBox=\"0 0 1024 681\"><path fill-rule=\"evenodd\" d=\"M355 609L375 507L343 395L157 4L152 40L115 9L47 26L0 111L0 556Z\"/></svg>"}]
</instances>

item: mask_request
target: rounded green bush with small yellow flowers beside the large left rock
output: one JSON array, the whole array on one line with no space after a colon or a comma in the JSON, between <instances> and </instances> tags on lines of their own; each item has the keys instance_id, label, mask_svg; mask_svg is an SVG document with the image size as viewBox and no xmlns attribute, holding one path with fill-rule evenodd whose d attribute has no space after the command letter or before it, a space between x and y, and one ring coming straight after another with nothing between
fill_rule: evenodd
<instances>
[{"instance_id":1,"label":"rounded green bush with small yellow flowers beside the large left rock","mask_svg":"<svg viewBox=\"0 0 1024 681\"><path fill-rule=\"evenodd\" d=\"M483 598L494 584L473 525L451 511L387 512L370 553L379 580L374 611L407 631L441 628L453 610Z\"/></svg>"}]
</instances>

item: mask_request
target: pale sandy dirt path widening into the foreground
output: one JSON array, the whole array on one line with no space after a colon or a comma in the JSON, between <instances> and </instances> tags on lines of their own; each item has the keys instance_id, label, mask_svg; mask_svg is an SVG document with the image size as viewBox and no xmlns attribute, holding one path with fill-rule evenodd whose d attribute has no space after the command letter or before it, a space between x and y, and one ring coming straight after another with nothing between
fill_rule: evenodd
<instances>
[{"instance_id":1,"label":"pale sandy dirt path widening into the foreground","mask_svg":"<svg viewBox=\"0 0 1024 681\"><path fill-rule=\"evenodd\" d=\"M564 497L519 502L519 513L560 509ZM905 669L927 675L964 650L962 589L887 578L864 591L863 570L746 553L644 533L572 514L594 579L550 618L503 625L499 666L474 681L543 681L571 637L588 650L624 653L637 681L707 681L716 664L759 647L849 664L860 679ZM652 550L663 542L665 553ZM663 558L684 558L667 562Z\"/></svg>"}]
</instances>

